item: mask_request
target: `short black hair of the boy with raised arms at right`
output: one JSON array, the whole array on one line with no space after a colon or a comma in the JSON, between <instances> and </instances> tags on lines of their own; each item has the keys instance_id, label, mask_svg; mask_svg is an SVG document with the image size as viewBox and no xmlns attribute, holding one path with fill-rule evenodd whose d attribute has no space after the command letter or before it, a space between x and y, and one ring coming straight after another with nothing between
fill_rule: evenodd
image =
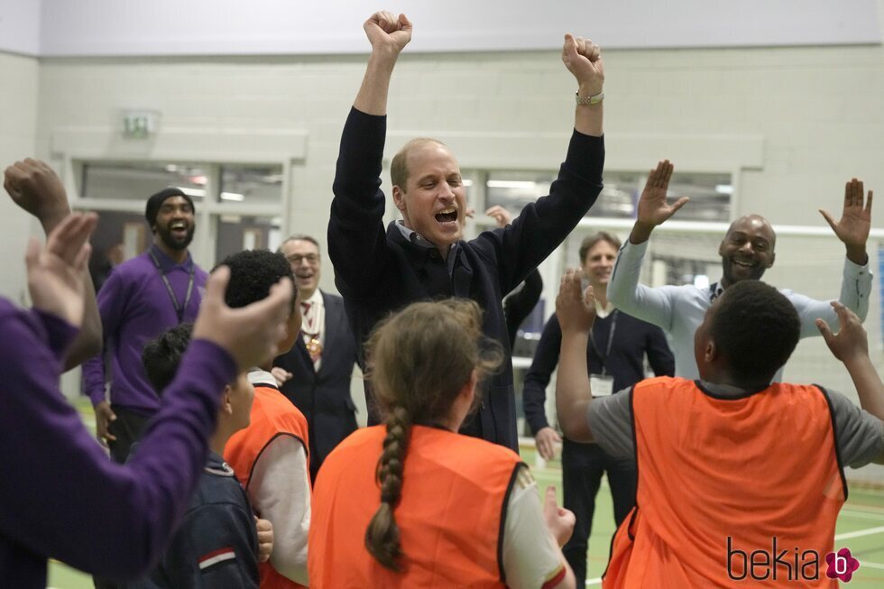
<instances>
[{"instance_id":1,"label":"short black hair of the boy with raised arms at right","mask_svg":"<svg viewBox=\"0 0 884 589\"><path fill-rule=\"evenodd\" d=\"M709 327L732 375L743 382L773 378L798 344L801 321L781 292L761 281L739 281L724 290Z\"/></svg>"}]
</instances>

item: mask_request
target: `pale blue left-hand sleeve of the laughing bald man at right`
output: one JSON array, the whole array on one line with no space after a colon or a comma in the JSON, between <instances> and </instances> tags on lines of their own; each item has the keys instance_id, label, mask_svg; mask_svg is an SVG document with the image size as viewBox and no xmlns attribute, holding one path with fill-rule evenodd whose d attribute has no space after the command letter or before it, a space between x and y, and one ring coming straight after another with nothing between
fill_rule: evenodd
<instances>
[{"instance_id":1,"label":"pale blue left-hand sleeve of the laughing bald man at right","mask_svg":"<svg viewBox=\"0 0 884 589\"><path fill-rule=\"evenodd\" d=\"M647 250L648 242L631 244L627 239L622 245L611 271L608 300L627 315L668 332L672 329L674 314L669 290L652 289L639 283L641 262Z\"/></svg>"}]
</instances>

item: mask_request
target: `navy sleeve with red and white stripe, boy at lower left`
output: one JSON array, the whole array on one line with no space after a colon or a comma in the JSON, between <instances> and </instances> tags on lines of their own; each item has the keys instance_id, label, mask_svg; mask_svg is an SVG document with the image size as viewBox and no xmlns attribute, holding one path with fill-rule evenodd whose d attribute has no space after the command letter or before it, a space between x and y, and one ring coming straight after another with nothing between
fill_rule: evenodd
<instances>
[{"instance_id":1,"label":"navy sleeve with red and white stripe, boy at lower left","mask_svg":"<svg viewBox=\"0 0 884 589\"><path fill-rule=\"evenodd\" d=\"M234 503L190 511L158 568L165 586L257 589L258 537L252 513Z\"/></svg>"}]
</instances>

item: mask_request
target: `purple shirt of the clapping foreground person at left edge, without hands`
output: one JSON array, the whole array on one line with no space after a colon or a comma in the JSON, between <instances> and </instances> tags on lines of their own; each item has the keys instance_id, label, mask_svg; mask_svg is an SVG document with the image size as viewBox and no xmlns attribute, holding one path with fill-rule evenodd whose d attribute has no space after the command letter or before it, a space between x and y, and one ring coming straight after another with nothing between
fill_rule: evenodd
<instances>
[{"instance_id":1,"label":"purple shirt of the clapping foreground person at left edge, without hands","mask_svg":"<svg viewBox=\"0 0 884 589\"><path fill-rule=\"evenodd\" d=\"M140 575L187 509L234 359L194 340L138 453L107 459L59 391L76 330L0 298L0 587L43 589L46 560Z\"/></svg>"}]
</instances>

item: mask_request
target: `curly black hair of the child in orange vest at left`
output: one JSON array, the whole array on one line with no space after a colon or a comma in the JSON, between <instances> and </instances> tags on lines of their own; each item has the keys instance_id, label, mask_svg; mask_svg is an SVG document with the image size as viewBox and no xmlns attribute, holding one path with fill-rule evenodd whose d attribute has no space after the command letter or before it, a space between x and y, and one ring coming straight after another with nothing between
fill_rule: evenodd
<instances>
[{"instance_id":1,"label":"curly black hair of the child in orange vest at left","mask_svg":"<svg viewBox=\"0 0 884 589\"><path fill-rule=\"evenodd\" d=\"M243 250L228 255L218 266L230 268L230 283L225 294L225 302L230 308L245 307L266 298L271 287L281 278L294 281L291 265L285 256L268 250ZM292 309L294 304L292 298Z\"/></svg>"}]
</instances>

